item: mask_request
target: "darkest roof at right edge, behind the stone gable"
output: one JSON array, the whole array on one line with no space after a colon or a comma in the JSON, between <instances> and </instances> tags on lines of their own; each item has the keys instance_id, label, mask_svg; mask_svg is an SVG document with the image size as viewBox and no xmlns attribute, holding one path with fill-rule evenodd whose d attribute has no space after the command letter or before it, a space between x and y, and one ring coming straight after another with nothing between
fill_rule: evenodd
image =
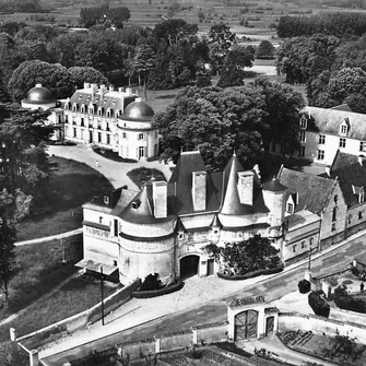
<instances>
[{"instance_id":1,"label":"darkest roof at right edge, behind the stone gable","mask_svg":"<svg viewBox=\"0 0 366 366\"><path fill-rule=\"evenodd\" d=\"M332 178L338 177L347 206L359 204L358 196L352 186L364 187L366 190L366 162L361 165L356 155L338 151L330 173Z\"/></svg>"}]
</instances>

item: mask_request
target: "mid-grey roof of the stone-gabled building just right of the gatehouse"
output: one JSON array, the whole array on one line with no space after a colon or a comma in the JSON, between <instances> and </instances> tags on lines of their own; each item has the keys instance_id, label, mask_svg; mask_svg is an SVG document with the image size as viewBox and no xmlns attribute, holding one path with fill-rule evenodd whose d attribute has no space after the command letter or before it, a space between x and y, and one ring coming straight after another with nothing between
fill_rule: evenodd
<instances>
[{"instance_id":1,"label":"mid-grey roof of the stone-gabled building just right of the gatehouse","mask_svg":"<svg viewBox=\"0 0 366 366\"><path fill-rule=\"evenodd\" d=\"M334 189L335 179L323 178L309 173L281 167L278 174L280 182L288 188L288 194L298 193L295 212L308 210L319 214L326 208Z\"/></svg>"}]
</instances>

